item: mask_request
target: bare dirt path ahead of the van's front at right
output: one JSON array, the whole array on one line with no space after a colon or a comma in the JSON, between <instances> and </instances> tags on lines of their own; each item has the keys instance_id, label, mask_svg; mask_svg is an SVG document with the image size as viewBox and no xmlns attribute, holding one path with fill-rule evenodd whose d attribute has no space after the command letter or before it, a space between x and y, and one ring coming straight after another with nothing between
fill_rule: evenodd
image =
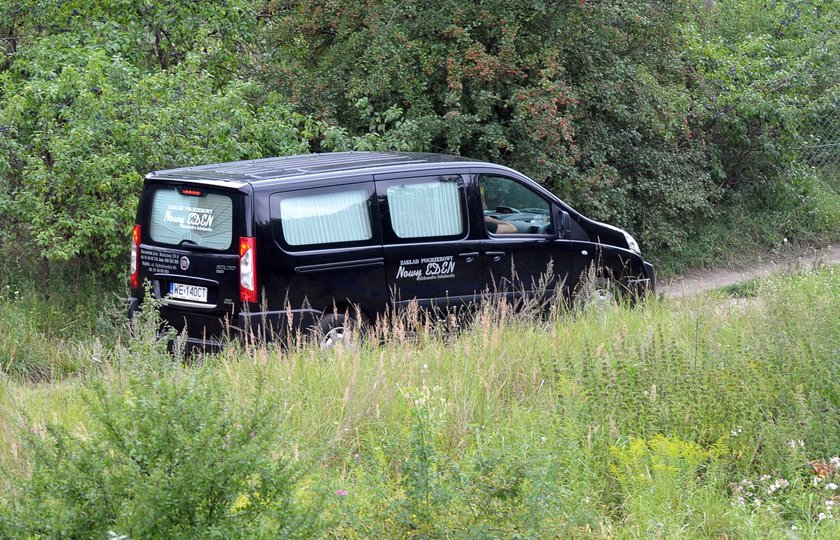
<instances>
[{"instance_id":1,"label":"bare dirt path ahead of the van's front at right","mask_svg":"<svg viewBox=\"0 0 840 540\"><path fill-rule=\"evenodd\" d=\"M776 260L758 263L744 269L706 270L690 272L688 275L659 284L657 293L679 298L703 291L734 285L755 277L769 276L796 268L812 268L818 264L840 264L840 246L824 249L809 249L798 255L780 256Z\"/></svg>"}]
</instances>

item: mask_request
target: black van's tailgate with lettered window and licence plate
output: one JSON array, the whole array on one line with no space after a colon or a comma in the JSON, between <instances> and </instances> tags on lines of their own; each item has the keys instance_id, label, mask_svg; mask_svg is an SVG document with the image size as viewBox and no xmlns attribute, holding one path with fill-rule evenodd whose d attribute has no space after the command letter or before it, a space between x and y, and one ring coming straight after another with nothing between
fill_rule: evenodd
<instances>
[{"instance_id":1,"label":"black van's tailgate with lettered window and licence plate","mask_svg":"<svg viewBox=\"0 0 840 540\"><path fill-rule=\"evenodd\" d=\"M248 236L249 186L147 183L141 203L140 279L161 315L192 337L224 332L239 300L239 237Z\"/></svg>"}]
</instances>

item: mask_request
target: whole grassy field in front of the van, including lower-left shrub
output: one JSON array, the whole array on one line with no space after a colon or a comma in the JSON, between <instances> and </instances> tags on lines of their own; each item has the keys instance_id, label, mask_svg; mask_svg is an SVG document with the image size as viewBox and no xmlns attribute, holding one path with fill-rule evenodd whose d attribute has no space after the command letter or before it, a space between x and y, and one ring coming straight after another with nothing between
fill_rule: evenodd
<instances>
[{"instance_id":1,"label":"whole grassy field in front of the van, including lower-left shrub","mask_svg":"<svg viewBox=\"0 0 840 540\"><path fill-rule=\"evenodd\" d=\"M32 300L0 299L0 536L840 537L837 267L190 365L151 314Z\"/></svg>"}]
</instances>

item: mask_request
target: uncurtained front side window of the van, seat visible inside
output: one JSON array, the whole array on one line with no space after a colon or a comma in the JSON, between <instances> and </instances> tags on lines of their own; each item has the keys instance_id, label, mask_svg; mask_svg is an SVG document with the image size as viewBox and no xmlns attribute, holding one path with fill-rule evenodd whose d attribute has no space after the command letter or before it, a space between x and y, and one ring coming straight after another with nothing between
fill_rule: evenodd
<instances>
[{"instance_id":1,"label":"uncurtained front side window of the van, seat visible inside","mask_svg":"<svg viewBox=\"0 0 840 540\"><path fill-rule=\"evenodd\" d=\"M551 203L504 176L479 177L484 226L490 234L552 234Z\"/></svg>"}]
</instances>

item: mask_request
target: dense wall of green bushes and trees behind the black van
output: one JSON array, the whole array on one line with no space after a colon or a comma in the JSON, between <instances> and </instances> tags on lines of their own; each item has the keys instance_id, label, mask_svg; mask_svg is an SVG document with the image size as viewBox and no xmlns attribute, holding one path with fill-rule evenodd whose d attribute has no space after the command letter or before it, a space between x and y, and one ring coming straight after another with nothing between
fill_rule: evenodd
<instances>
[{"instance_id":1,"label":"dense wall of green bushes and trees behind the black van","mask_svg":"<svg viewBox=\"0 0 840 540\"><path fill-rule=\"evenodd\" d=\"M837 0L10 0L3 251L113 271L150 170L392 148L511 165L679 256L704 223L825 195L797 149L838 104L839 13ZM832 220L770 219L755 236Z\"/></svg>"}]
</instances>

